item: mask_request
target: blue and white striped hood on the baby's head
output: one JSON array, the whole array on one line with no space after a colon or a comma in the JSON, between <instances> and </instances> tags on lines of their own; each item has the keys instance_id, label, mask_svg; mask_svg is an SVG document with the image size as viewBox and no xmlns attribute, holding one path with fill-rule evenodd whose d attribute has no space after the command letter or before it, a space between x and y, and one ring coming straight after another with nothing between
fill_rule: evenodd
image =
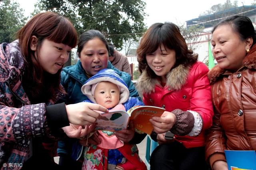
<instances>
[{"instance_id":1,"label":"blue and white striped hood on the baby's head","mask_svg":"<svg viewBox=\"0 0 256 170\"><path fill-rule=\"evenodd\" d=\"M92 94L92 85L99 82L112 82L118 86L120 89L120 100L118 104L123 104L128 100L130 92L124 80L114 70L105 68L89 78L81 88L82 93L93 103L96 103L96 100Z\"/></svg>"}]
</instances>

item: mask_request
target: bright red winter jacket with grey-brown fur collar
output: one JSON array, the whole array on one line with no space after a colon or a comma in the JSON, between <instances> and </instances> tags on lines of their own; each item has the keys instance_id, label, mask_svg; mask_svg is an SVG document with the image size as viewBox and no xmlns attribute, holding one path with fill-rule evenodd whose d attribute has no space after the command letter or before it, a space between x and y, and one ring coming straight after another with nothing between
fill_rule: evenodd
<instances>
[{"instance_id":1,"label":"bright red winter jacket with grey-brown fur collar","mask_svg":"<svg viewBox=\"0 0 256 170\"><path fill-rule=\"evenodd\" d=\"M179 65L170 70L164 87L157 78L150 78L146 70L138 80L137 88L143 94L145 106L164 107L170 112L181 109L184 112L195 111L200 114L202 130L199 135L175 135L175 140L181 142L186 148L204 146L204 131L212 125L213 108L207 73L207 66L198 61L188 67ZM176 116L176 123L182 123L180 121L182 120L177 119Z\"/></svg>"}]
</instances>

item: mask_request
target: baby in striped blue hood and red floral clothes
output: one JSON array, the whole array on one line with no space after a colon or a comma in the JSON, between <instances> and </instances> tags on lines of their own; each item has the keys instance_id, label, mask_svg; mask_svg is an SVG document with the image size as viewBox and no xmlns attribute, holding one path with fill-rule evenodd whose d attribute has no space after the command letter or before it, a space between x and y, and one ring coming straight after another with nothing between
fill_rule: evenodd
<instances>
[{"instance_id":1,"label":"baby in striped blue hood and red floral clothes","mask_svg":"<svg viewBox=\"0 0 256 170\"><path fill-rule=\"evenodd\" d=\"M100 70L86 81L81 90L89 99L85 102L100 104L109 111L130 112L136 106L144 106L138 98L129 97L129 90L124 80L112 69ZM139 157L137 146L129 143L134 137L133 124L130 123L129 126L132 128L116 132L98 130L101 143L90 145L84 150L82 169L88 170L93 167L97 170L118 168L146 170L146 165ZM146 134L142 135L146 136ZM96 154L98 156L90 156ZM100 163L97 163L97 160Z\"/></svg>"}]
</instances>

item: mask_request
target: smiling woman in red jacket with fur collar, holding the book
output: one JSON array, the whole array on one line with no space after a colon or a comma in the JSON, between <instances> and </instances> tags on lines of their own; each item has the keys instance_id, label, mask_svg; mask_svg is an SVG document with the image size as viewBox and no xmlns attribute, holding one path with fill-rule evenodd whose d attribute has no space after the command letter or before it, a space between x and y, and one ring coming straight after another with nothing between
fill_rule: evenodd
<instances>
[{"instance_id":1,"label":"smiling woman in red jacket with fur collar, holding the book","mask_svg":"<svg viewBox=\"0 0 256 170\"><path fill-rule=\"evenodd\" d=\"M144 104L166 109L150 120L151 137L161 144L151 155L151 169L206 169L204 131L213 116L207 66L197 61L174 23L153 24L137 53ZM166 132L173 139L165 139Z\"/></svg>"}]
</instances>

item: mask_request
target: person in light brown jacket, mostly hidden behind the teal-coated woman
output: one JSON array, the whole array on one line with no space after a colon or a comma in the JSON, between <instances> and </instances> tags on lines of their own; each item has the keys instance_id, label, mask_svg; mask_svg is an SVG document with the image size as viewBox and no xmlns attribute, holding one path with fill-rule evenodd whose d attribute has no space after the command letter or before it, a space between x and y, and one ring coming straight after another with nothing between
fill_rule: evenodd
<instances>
[{"instance_id":1,"label":"person in light brown jacket, mostly hidden behind the teal-coated woman","mask_svg":"<svg viewBox=\"0 0 256 170\"><path fill-rule=\"evenodd\" d=\"M108 48L108 60L111 62L111 64L118 70L127 72L128 74L132 75L128 58L116 49L114 49L114 45L112 43L108 43Z\"/></svg>"}]
</instances>

